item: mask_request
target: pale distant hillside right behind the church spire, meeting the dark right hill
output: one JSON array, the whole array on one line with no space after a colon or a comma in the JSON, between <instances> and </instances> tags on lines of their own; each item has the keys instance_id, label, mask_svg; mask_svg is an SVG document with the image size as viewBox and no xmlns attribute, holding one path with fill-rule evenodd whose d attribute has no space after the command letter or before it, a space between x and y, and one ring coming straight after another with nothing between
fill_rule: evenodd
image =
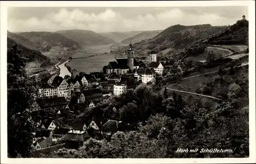
<instances>
[{"instance_id":1,"label":"pale distant hillside right behind the church spire, meeting the dark right hill","mask_svg":"<svg viewBox=\"0 0 256 164\"><path fill-rule=\"evenodd\" d=\"M161 32L162 32L162 30L144 31L142 33L139 33L139 34L133 36L133 37L122 40L122 43L129 44L130 41L132 43L137 43L142 40L151 39Z\"/></svg>"}]
</instances>

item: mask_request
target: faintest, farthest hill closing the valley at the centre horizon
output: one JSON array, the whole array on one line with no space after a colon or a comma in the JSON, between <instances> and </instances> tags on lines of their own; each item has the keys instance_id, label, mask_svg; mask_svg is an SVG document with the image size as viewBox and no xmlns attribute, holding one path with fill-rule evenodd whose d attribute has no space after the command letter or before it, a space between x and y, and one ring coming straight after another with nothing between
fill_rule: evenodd
<instances>
[{"instance_id":1,"label":"faintest, farthest hill closing the valley at the centre horizon","mask_svg":"<svg viewBox=\"0 0 256 164\"><path fill-rule=\"evenodd\" d=\"M99 33L100 35L113 39L117 43L121 42L122 40L126 38L133 37L139 33L142 33L143 31L131 31L131 32L110 32L110 33Z\"/></svg>"}]
</instances>

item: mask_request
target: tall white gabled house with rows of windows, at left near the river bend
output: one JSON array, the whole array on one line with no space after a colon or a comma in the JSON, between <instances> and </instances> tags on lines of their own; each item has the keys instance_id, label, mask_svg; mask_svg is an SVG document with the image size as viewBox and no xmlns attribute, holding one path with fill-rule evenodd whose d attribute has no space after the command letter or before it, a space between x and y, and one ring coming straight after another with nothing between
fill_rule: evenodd
<instances>
[{"instance_id":1,"label":"tall white gabled house with rows of windows, at left near the river bend","mask_svg":"<svg viewBox=\"0 0 256 164\"><path fill-rule=\"evenodd\" d=\"M67 98L69 96L69 84L62 77L56 76L53 79L51 86L57 87L57 96L58 97L64 96Z\"/></svg>"}]
</instances>

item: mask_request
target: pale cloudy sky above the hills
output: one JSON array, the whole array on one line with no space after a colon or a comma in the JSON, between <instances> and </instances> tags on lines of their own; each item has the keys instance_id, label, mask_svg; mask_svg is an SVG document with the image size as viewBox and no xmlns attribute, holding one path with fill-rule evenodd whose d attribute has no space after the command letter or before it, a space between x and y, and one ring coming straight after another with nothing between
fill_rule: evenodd
<instances>
[{"instance_id":1,"label":"pale cloudy sky above the hills","mask_svg":"<svg viewBox=\"0 0 256 164\"><path fill-rule=\"evenodd\" d=\"M164 30L175 24L232 25L246 6L218 7L9 7L8 31L55 32L91 30L96 33Z\"/></svg>"}]
</instances>

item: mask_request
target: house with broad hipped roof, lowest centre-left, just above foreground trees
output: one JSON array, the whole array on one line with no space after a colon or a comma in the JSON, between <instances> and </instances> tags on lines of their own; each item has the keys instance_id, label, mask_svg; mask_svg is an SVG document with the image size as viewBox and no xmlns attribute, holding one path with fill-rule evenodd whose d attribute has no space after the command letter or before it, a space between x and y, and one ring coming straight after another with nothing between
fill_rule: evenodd
<instances>
[{"instance_id":1,"label":"house with broad hipped roof, lowest centre-left, just above foreground trees","mask_svg":"<svg viewBox=\"0 0 256 164\"><path fill-rule=\"evenodd\" d=\"M86 141L90 136L88 135L87 131L81 131L81 130L70 130L67 134L63 136L61 139L62 141L76 141L76 142L84 142Z\"/></svg>"}]
</instances>

